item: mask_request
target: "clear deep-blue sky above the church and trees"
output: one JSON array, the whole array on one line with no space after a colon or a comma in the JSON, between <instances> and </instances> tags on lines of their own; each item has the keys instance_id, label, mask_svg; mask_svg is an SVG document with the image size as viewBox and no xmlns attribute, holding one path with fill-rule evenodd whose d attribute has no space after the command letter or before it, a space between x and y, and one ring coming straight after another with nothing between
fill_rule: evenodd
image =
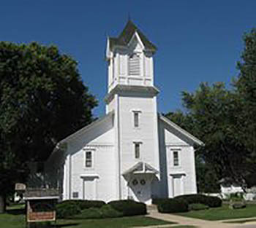
<instances>
[{"instance_id":1,"label":"clear deep-blue sky above the church and trees","mask_svg":"<svg viewBox=\"0 0 256 228\"><path fill-rule=\"evenodd\" d=\"M236 76L244 32L256 27L256 1L37 0L0 3L0 40L56 44L79 63L83 82L105 113L106 36L118 36L128 14L157 45L154 76L160 112L181 109L181 91Z\"/></svg>"}]
</instances>

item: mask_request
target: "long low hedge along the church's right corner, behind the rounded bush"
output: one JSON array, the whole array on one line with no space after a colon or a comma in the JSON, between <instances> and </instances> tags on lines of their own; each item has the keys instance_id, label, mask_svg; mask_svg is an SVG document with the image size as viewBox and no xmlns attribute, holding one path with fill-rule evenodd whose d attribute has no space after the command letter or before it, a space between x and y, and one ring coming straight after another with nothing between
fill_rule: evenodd
<instances>
[{"instance_id":1,"label":"long low hedge along the church's right corner, behind the rounded bush","mask_svg":"<svg viewBox=\"0 0 256 228\"><path fill-rule=\"evenodd\" d=\"M186 200L188 204L202 203L210 208L218 208L222 206L222 200L219 197L211 197L203 194L184 194L174 199Z\"/></svg>"}]
</instances>

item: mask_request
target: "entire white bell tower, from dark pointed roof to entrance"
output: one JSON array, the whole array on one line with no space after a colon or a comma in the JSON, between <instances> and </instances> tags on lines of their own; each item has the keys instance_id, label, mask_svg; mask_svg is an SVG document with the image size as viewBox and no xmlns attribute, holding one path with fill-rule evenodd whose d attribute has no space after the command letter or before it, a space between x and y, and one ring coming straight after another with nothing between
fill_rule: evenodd
<instances>
[{"instance_id":1,"label":"entire white bell tower, from dark pointed roof to entrance","mask_svg":"<svg viewBox=\"0 0 256 228\"><path fill-rule=\"evenodd\" d=\"M150 183L159 172L159 90L154 87L153 69L156 50L131 20L118 37L108 38L105 101L107 114L113 114L118 199L149 197ZM130 184L136 179L133 171L140 167L142 173L137 178L141 183L145 181L146 192L138 190L132 195Z\"/></svg>"}]
</instances>

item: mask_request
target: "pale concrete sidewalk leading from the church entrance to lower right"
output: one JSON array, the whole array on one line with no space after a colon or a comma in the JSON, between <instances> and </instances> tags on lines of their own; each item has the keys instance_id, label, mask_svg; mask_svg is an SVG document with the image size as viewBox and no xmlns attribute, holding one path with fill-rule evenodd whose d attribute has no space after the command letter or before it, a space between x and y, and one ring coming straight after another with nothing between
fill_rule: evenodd
<instances>
[{"instance_id":1,"label":"pale concrete sidewalk leading from the church entrance to lower right","mask_svg":"<svg viewBox=\"0 0 256 228\"><path fill-rule=\"evenodd\" d=\"M148 217L154 219L162 219L165 221L173 221L176 222L176 225L165 225L165 226L155 226L155 227L173 227L177 225L190 225L198 228L256 228L256 222L248 222L246 224L227 224L222 221L206 221L202 219L194 219L184 216L176 216L169 213L159 213L157 210L149 210ZM241 219L242 220L242 219ZM244 219L245 220L245 219Z\"/></svg>"}]
</instances>

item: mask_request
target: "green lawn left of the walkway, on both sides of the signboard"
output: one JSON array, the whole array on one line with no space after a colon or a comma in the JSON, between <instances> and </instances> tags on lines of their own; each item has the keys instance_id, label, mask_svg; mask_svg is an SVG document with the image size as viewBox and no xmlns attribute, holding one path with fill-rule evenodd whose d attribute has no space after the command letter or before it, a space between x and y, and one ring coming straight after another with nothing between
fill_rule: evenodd
<instances>
[{"instance_id":1,"label":"green lawn left of the walkway, on both sides of the signboard","mask_svg":"<svg viewBox=\"0 0 256 228\"><path fill-rule=\"evenodd\" d=\"M116 219L59 219L57 227L67 228L128 228L153 225L174 224L173 222L152 219L146 216L132 216ZM20 207L9 208L0 214L0 228L25 228L24 210ZM185 227L183 227L185 228ZM189 228L189 227L187 227Z\"/></svg>"}]
</instances>

